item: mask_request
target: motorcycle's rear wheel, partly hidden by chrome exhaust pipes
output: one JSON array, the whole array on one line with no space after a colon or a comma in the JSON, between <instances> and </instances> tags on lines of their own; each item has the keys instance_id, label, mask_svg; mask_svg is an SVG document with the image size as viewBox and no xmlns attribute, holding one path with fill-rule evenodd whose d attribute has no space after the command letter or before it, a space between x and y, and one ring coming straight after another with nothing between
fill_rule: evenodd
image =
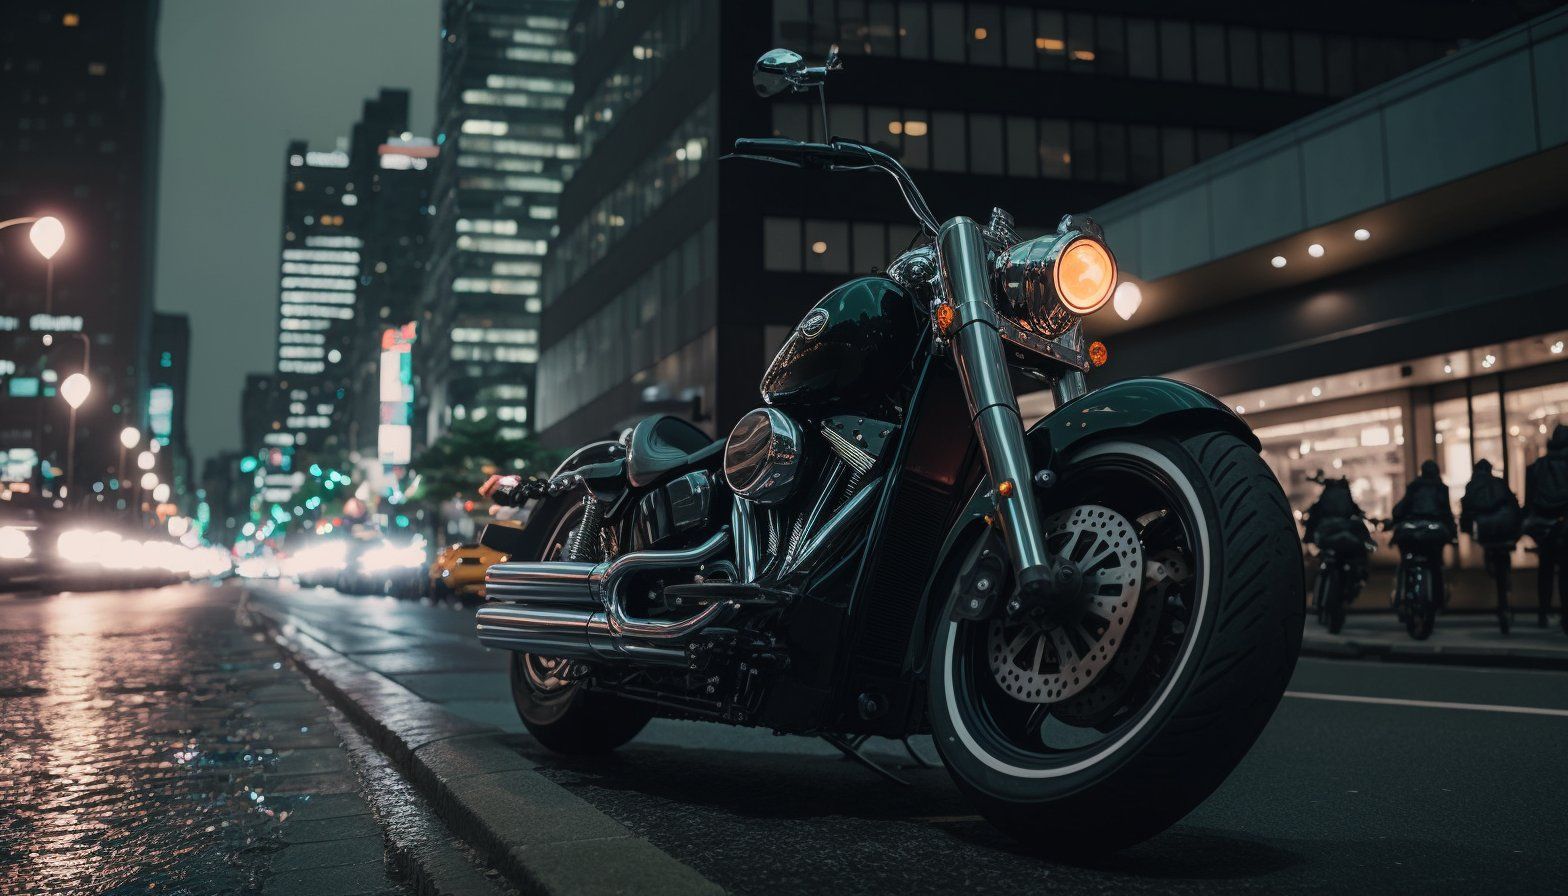
<instances>
[{"instance_id":1,"label":"motorcycle's rear wheel, partly hidden by chrome exhaust pipes","mask_svg":"<svg viewBox=\"0 0 1568 896\"><path fill-rule=\"evenodd\" d=\"M582 519L582 504L539 507L549 534L541 560L558 560ZM637 736L654 717L652 706L593 692L564 659L511 654L511 700L530 734L557 753L607 753Z\"/></svg>"}]
</instances>

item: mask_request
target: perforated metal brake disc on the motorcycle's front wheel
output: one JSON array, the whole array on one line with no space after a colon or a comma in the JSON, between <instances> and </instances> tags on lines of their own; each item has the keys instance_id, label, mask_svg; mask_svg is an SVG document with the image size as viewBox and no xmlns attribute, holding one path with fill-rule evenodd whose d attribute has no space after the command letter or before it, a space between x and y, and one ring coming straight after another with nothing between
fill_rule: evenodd
<instances>
[{"instance_id":1,"label":"perforated metal brake disc on the motorcycle's front wheel","mask_svg":"<svg viewBox=\"0 0 1568 896\"><path fill-rule=\"evenodd\" d=\"M1083 615L1066 625L991 620L991 673L1010 697L1057 703L1094 683L1121 647L1138 607L1143 545L1126 516L1083 504L1044 521L1046 551L1083 573Z\"/></svg>"}]
</instances>

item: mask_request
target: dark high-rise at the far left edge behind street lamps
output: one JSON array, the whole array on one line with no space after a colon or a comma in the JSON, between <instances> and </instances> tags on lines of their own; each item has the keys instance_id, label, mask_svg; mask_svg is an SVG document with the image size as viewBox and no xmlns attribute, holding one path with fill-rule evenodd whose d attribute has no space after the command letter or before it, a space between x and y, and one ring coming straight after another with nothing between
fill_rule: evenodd
<instances>
[{"instance_id":1,"label":"dark high-rise at the far left edge behind street lamps","mask_svg":"<svg viewBox=\"0 0 1568 896\"><path fill-rule=\"evenodd\" d=\"M0 469L39 485L66 466L56 386L86 367L77 414L83 494L108 479L119 430L140 425L152 309L162 86L155 0L31 3L0 27L0 221L53 215L52 276L28 226L0 231ZM50 282L52 281L52 282ZM44 347L42 337L52 336Z\"/></svg>"}]
</instances>

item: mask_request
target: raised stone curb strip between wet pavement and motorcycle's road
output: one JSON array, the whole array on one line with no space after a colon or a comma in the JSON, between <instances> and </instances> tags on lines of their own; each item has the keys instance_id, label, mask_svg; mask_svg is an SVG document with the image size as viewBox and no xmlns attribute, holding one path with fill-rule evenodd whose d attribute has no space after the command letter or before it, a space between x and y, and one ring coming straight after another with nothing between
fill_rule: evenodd
<instances>
[{"instance_id":1,"label":"raised stone curb strip between wet pavement and motorcycle's road","mask_svg":"<svg viewBox=\"0 0 1568 896\"><path fill-rule=\"evenodd\" d=\"M455 716L329 648L299 623L248 612L414 785L478 858L524 893L721 894L690 866L533 770L505 734Z\"/></svg>"}]
</instances>

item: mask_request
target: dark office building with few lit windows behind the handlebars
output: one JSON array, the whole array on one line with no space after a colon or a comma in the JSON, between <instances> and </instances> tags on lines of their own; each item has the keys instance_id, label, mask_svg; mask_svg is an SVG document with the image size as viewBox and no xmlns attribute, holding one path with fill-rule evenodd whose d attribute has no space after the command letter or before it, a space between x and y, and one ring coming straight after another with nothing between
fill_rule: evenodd
<instances>
[{"instance_id":1,"label":"dark office building with few lit windows behind the handlebars","mask_svg":"<svg viewBox=\"0 0 1568 896\"><path fill-rule=\"evenodd\" d=\"M1475 3L599 3L574 17L582 162L550 245L547 444L654 411L715 436L817 297L914 235L886 177L718 163L737 137L822 138L814 96L759 99L770 47L844 71L833 135L897 154L939 217L1082 212L1496 31Z\"/></svg>"}]
</instances>

